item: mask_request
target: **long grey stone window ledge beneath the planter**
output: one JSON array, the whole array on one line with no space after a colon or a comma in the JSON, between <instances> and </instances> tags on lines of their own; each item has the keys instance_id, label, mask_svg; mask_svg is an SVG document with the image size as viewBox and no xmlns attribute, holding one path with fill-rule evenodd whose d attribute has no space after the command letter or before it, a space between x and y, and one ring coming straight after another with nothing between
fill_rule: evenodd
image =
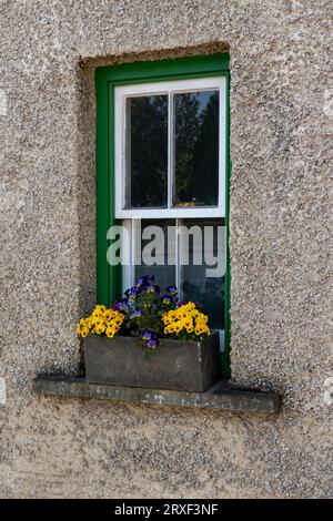
<instances>
[{"instance_id":1,"label":"long grey stone window ledge beneath the planter","mask_svg":"<svg viewBox=\"0 0 333 521\"><path fill-rule=\"evenodd\" d=\"M33 380L38 395L68 398L90 398L110 401L128 401L164 406L220 409L232 412L276 415L279 395L258 390L231 389L220 380L205 392L185 392L139 387L118 387L88 384L84 378L38 377Z\"/></svg>"}]
</instances>

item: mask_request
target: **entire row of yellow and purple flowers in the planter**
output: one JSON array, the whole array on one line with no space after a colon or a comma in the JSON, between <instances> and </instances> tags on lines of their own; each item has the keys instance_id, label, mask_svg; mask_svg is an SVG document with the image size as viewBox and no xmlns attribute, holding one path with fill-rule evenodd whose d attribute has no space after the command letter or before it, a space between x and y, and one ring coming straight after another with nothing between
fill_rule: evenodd
<instances>
[{"instance_id":1,"label":"entire row of yellow and purple flowers in the planter","mask_svg":"<svg viewBox=\"0 0 333 521\"><path fill-rule=\"evenodd\" d=\"M144 276L111 308L99 305L88 318L82 318L77 334L82 338L90 334L109 338L118 334L135 336L144 353L153 353L163 336L198 341L210 335L210 328L208 317L194 303L179 303L175 286L168 286L161 294L154 278Z\"/></svg>"}]
</instances>

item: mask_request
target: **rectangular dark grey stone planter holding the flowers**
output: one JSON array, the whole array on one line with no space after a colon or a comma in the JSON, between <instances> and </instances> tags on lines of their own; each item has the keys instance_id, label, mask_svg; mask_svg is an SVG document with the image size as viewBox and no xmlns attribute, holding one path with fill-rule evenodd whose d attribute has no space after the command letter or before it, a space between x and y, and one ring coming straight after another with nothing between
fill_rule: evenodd
<instances>
[{"instance_id":1,"label":"rectangular dark grey stone planter holding the flowers","mask_svg":"<svg viewBox=\"0 0 333 521\"><path fill-rule=\"evenodd\" d=\"M89 384L204 391L221 376L218 333L201 344L163 338L148 356L132 337L90 335L83 348Z\"/></svg>"}]
</instances>

